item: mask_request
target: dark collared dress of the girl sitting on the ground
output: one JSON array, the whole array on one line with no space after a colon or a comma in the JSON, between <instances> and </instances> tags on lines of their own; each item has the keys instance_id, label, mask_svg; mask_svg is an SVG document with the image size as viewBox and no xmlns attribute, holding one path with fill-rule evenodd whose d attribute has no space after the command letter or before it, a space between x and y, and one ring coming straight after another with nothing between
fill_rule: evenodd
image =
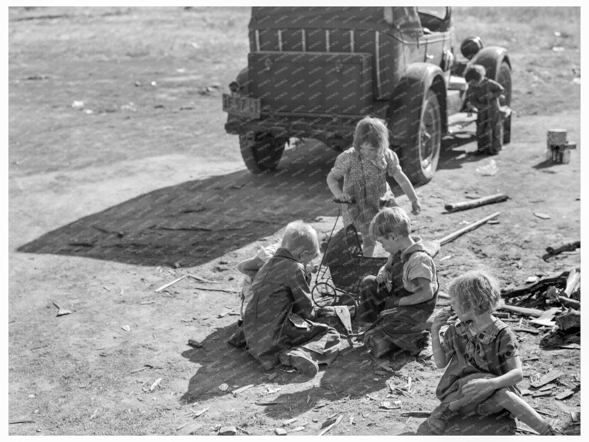
<instances>
[{"instance_id":1,"label":"dark collared dress of the girl sitting on the ground","mask_svg":"<svg viewBox=\"0 0 589 442\"><path fill-rule=\"evenodd\" d=\"M442 403L446 396L459 390L461 378L478 373L504 375L509 371L507 359L519 355L514 332L499 319L478 335L474 335L464 322L455 322L444 333L442 348L446 354L452 354L436 389L436 396ZM521 397L517 385L505 388Z\"/></svg>"}]
</instances>

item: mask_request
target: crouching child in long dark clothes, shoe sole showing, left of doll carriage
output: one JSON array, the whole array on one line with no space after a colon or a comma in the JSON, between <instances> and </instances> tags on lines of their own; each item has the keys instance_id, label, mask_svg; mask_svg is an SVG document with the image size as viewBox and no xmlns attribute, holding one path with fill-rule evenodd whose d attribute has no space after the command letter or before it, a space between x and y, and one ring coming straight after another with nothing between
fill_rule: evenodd
<instances>
[{"instance_id":1,"label":"crouching child in long dark clothes, shoe sole showing, left of doll carriage","mask_svg":"<svg viewBox=\"0 0 589 442\"><path fill-rule=\"evenodd\" d=\"M339 333L314 321L319 309L312 302L305 266L319 253L317 232L295 221L287 226L282 245L257 272L243 325L228 342L246 345L266 370L292 365L315 376L318 364L333 362L340 349Z\"/></svg>"}]
</instances>

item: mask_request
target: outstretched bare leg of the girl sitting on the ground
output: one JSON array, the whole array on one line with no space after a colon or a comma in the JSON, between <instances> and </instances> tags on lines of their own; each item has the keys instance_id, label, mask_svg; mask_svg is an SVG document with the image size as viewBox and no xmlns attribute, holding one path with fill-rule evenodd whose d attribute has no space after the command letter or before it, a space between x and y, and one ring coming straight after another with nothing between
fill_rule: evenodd
<instances>
[{"instance_id":1,"label":"outstretched bare leg of the girl sitting on the ground","mask_svg":"<svg viewBox=\"0 0 589 442\"><path fill-rule=\"evenodd\" d=\"M507 388L501 388L501 390L495 391L488 400L481 404L480 412L482 414L499 413L503 408L511 411L515 417L524 424L530 425L531 428L540 434L545 434L550 429L550 423L548 421L542 418L523 398L519 397L513 391L507 390Z\"/></svg>"}]
</instances>

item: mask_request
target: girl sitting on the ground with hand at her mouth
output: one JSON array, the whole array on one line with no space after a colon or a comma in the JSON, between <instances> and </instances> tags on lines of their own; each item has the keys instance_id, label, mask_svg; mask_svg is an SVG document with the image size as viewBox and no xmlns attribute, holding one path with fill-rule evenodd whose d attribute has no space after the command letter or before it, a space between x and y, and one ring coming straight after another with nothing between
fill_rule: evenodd
<instances>
[{"instance_id":1,"label":"girl sitting on the ground with hand at her mouth","mask_svg":"<svg viewBox=\"0 0 589 442\"><path fill-rule=\"evenodd\" d=\"M449 312L442 311L432 325L434 361L446 372L436 389L442 403L428 418L441 434L454 414L487 415L504 408L538 433L556 431L521 396L523 378L514 332L493 312L501 305L498 282L481 271L466 272L449 287L452 308L459 321L451 324L440 341L439 329Z\"/></svg>"}]
</instances>

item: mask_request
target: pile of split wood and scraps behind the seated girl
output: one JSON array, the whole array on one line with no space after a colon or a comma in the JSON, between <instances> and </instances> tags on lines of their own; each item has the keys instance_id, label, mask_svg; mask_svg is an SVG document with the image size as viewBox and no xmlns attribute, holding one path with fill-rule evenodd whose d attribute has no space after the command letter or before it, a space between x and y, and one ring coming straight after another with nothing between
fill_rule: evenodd
<instances>
[{"instance_id":1,"label":"pile of split wood and scraps behind the seated girl","mask_svg":"<svg viewBox=\"0 0 589 442\"><path fill-rule=\"evenodd\" d=\"M540 342L542 347L581 348L580 266L542 276L521 287L504 289L501 296L507 300L501 310L521 316L517 326L511 327L514 331L545 332ZM527 327L522 327L524 318Z\"/></svg>"}]
</instances>

